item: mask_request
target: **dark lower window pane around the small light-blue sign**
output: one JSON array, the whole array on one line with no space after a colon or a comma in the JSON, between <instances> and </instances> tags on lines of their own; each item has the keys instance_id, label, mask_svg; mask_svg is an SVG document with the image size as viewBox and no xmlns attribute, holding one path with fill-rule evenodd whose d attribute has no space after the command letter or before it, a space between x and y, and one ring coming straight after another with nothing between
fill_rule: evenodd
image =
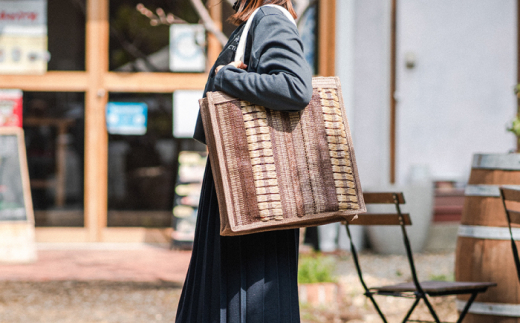
<instances>
[{"instance_id":1,"label":"dark lower window pane around the small light-blue sign","mask_svg":"<svg viewBox=\"0 0 520 323\"><path fill-rule=\"evenodd\" d=\"M109 101L119 107L145 106L147 123L144 134L124 134L130 130L117 126L109 131L108 226L169 227L179 152L205 151L205 146L174 138L171 94L111 93Z\"/></svg>"}]
</instances>

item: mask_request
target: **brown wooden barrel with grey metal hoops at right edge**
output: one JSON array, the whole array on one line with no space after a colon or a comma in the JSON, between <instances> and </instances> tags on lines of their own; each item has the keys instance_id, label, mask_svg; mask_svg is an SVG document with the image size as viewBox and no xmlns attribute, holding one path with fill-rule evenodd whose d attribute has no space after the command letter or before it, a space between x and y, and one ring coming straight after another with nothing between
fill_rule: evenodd
<instances>
[{"instance_id":1,"label":"brown wooden barrel with grey metal hoops at right edge","mask_svg":"<svg viewBox=\"0 0 520 323\"><path fill-rule=\"evenodd\" d=\"M477 297L465 323L520 323L520 284L500 185L520 185L520 154L473 156L458 232L455 279L498 286ZM520 240L520 228L514 231ZM459 311L466 300L465 296L457 299Z\"/></svg>"}]
</instances>

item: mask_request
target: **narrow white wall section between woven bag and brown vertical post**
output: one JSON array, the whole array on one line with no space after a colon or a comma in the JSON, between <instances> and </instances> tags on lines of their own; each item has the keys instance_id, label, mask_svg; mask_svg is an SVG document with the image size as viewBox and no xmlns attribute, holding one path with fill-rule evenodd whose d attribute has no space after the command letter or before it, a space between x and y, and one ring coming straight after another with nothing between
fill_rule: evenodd
<instances>
[{"instance_id":1,"label":"narrow white wall section between woven bag and brown vertical post","mask_svg":"<svg viewBox=\"0 0 520 323\"><path fill-rule=\"evenodd\" d=\"M336 73L361 185L379 187L389 179L389 1L337 0L336 5Z\"/></svg>"}]
</instances>

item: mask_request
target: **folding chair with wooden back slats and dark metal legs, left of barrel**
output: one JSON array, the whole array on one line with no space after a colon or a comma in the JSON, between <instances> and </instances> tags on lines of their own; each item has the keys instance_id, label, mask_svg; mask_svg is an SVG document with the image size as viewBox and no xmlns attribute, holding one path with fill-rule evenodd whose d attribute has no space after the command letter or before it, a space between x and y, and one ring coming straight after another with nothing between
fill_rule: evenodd
<instances>
[{"instance_id":1,"label":"folding chair with wooden back slats and dark metal legs, left of barrel","mask_svg":"<svg viewBox=\"0 0 520 323\"><path fill-rule=\"evenodd\" d=\"M377 313L383 320L383 322L387 323L387 320L377 305L377 302L374 299L374 295L383 295L383 296L394 296L394 297L408 297L415 298L415 302L412 304L408 313L403 319L404 322L419 322L416 320L409 320L413 311L421 301L424 301L430 314L432 315L434 321L436 323L440 323L437 314L433 306L431 305L427 296L436 297L436 296L448 296L448 295L458 295L458 294L470 294L470 298L466 303L464 309L459 315L457 323L462 322L464 316L468 312L471 304L477 297L477 294L485 292L488 287L496 286L496 283L492 282L444 282L444 281L425 281L419 282L417 278L417 273L415 271L415 265L413 261L412 248L410 247L410 241L408 239L408 235L406 233L406 225L411 225L410 215L401 213L400 205L404 204L404 196L401 192L390 192L390 193L365 193L364 199L366 204L394 204L396 213L383 213L383 214L360 214L358 219L353 220L350 223L346 223L345 227L347 229L347 235L350 239L350 249L352 252L352 258L354 260L354 264L356 266L356 270L359 276L359 280L361 281L361 285L365 289L365 295L370 299L372 304L374 305ZM363 280L363 274L361 272L361 267L359 264L358 255L356 252L356 248L354 243L352 242L352 238L350 235L350 225L399 225L401 227L401 232L403 236L403 242L406 249L406 255L408 257L408 262L410 265L410 271L412 275L412 282L401 283L396 285L389 286L381 286L381 287L368 287ZM425 321L420 321L425 322Z\"/></svg>"}]
</instances>

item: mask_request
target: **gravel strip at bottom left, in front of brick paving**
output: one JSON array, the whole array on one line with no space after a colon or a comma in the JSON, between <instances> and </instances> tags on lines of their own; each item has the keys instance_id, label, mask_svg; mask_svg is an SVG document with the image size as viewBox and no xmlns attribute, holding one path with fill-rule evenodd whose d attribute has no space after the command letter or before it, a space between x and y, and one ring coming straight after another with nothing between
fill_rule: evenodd
<instances>
[{"instance_id":1,"label":"gravel strip at bottom left, in front of brick paving","mask_svg":"<svg viewBox=\"0 0 520 323\"><path fill-rule=\"evenodd\" d=\"M180 293L171 283L0 282L0 322L173 322Z\"/></svg>"}]
</instances>

